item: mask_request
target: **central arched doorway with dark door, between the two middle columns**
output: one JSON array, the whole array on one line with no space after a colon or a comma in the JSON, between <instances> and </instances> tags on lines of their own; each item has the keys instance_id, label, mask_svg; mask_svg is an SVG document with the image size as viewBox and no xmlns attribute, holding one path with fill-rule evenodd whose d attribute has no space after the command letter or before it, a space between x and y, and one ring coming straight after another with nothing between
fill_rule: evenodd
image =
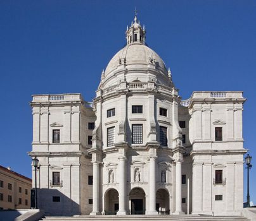
<instances>
[{"instance_id":1,"label":"central arched doorway with dark door, between the two middle columns","mask_svg":"<svg viewBox=\"0 0 256 221\"><path fill-rule=\"evenodd\" d=\"M129 193L129 207L131 214L145 214L145 192L141 188L133 188Z\"/></svg>"}]
</instances>

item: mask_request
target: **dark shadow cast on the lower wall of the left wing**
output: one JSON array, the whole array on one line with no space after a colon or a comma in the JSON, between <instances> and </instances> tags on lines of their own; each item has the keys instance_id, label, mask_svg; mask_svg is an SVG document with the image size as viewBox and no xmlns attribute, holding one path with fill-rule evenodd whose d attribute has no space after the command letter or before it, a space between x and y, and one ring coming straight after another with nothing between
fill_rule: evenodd
<instances>
[{"instance_id":1,"label":"dark shadow cast on the lower wall of the left wing","mask_svg":"<svg viewBox=\"0 0 256 221\"><path fill-rule=\"evenodd\" d=\"M78 200L79 197L75 196ZM81 213L79 204L58 189L37 189L37 203L38 208L44 210L46 216L72 216Z\"/></svg>"}]
</instances>

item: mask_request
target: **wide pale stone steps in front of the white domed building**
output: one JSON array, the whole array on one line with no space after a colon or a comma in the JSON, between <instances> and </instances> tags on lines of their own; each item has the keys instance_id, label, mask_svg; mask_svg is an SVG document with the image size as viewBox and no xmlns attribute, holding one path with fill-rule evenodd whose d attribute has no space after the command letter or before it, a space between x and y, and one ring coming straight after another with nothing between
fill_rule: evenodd
<instances>
[{"instance_id":1,"label":"wide pale stone steps in front of the white domed building","mask_svg":"<svg viewBox=\"0 0 256 221\"><path fill-rule=\"evenodd\" d=\"M45 221L74 221L74 220L176 220L176 221L250 221L248 218L242 216L210 216L210 215L77 215L74 217L44 217L41 220ZM253 221L253 220L252 220Z\"/></svg>"}]
</instances>

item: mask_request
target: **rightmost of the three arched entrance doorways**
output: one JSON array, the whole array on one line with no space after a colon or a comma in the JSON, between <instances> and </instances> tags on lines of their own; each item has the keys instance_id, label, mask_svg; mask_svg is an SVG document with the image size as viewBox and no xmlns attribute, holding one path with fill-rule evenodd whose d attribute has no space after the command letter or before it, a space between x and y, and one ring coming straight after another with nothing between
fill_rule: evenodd
<instances>
[{"instance_id":1,"label":"rightmost of the three arched entrance doorways","mask_svg":"<svg viewBox=\"0 0 256 221\"><path fill-rule=\"evenodd\" d=\"M170 197L166 189L158 189L156 207L159 214L170 214Z\"/></svg>"}]
</instances>

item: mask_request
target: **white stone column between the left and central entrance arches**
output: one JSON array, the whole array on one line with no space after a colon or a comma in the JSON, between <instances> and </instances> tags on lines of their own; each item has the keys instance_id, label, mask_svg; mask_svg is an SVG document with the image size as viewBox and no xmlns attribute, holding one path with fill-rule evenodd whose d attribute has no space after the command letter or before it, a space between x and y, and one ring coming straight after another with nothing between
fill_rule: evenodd
<instances>
[{"instance_id":1,"label":"white stone column between the left and central entrance arches","mask_svg":"<svg viewBox=\"0 0 256 221\"><path fill-rule=\"evenodd\" d=\"M119 210L117 215L126 215L126 157L119 158Z\"/></svg>"}]
</instances>

